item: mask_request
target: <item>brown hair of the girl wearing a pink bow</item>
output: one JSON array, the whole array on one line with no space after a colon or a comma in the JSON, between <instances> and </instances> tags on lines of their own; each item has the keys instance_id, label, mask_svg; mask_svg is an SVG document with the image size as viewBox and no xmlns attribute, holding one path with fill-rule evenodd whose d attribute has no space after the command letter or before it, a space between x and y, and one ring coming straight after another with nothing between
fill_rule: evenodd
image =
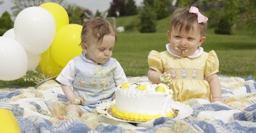
<instances>
[{"instance_id":1,"label":"brown hair of the girl wearing a pink bow","mask_svg":"<svg viewBox=\"0 0 256 133\"><path fill-rule=\"evenodd\" d=\"M178 29L179 31L189 32L193 29L193 25L196 24L200 28L200 35L205 36L207 31L207 22L198 23L197 15L195 13L189 13L189 9L177 8L172 15L172 20L170 22L170 31L172 29Z\"/></svg>"}]
</instances>

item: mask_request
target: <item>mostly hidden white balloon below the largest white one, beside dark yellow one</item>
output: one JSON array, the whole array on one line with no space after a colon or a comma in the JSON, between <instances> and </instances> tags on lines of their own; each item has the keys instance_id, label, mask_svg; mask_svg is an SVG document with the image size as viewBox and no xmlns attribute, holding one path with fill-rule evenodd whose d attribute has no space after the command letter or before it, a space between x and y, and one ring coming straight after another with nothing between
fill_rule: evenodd
<instances>
[{"instance_id":1,"label":"mostly hidden white balloon below the largest white one, beside dark yellow one","mask_svg":"<svg viewBox=\"0 0 256 133\"><path fill-rule=\"evenodd\" d=\"M35 53L28 52L28 51L26 51L26 52L28 55L28 71L33 71L38 66L41 56L40 56L40 54L35 54Z\"/></svg>"}]
</instances>

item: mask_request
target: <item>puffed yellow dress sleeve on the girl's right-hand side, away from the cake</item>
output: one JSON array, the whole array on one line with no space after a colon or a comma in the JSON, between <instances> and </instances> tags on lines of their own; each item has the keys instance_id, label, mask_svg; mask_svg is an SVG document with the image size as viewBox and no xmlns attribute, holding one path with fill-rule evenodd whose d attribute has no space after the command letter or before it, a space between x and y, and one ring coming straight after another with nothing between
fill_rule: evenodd
<instances>
[{"instance_id":1,"label":"puffed yellow dress sleeve on the girl's right-hand side, away from the cake","mask_svg":"<svg viewBox=\"0 0 256 133\"><path fill-rule=\"evenodd\" d=\"M216 74L219 72L219 59L214 52L214 50L211 50L208 54L208 58L206 59L205 63L205 71L204 75L205 78L208 76L211 76L212 74Z\"/></svg>"}]
</instances>

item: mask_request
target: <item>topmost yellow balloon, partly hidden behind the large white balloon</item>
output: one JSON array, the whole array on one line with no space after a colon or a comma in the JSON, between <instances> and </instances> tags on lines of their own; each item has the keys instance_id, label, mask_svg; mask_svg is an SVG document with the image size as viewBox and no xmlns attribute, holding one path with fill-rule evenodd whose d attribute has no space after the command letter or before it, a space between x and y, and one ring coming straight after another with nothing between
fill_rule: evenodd
<instances>
[{"instance_id":1,"label":"topmost yellow balloon, partly hidden behind the large white balloon","mask_svg":"<svg viewBox=\"0 0 256 133\"><path fill-rule=\"evenodd\" d=\"M56 24L56 31L69 24L68 13L60 4L49 2L41 4L39 7L44 8L52 14Z\"/></svg>"}]
</instances>

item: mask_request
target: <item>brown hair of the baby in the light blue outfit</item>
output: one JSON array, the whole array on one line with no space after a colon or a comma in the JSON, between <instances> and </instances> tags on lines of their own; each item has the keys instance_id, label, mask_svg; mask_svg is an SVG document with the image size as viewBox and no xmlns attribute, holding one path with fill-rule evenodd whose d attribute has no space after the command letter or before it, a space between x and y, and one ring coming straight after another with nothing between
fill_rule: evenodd
<instances>
[{"instance_id":1,"label":"brown hair of the baby in the light blue outfit","mask_svg":"<svg viewBox=\"0 0 256 133\"><path fill-rule=\"evenodd\" d=\"M92 37L97 39L97 43L101 43L107 34L113 34L116 38L115 31L107 20L100 17L92 17L84 22L81 32L81 43L90 43Z\"/></svg>"}]
</instances>

